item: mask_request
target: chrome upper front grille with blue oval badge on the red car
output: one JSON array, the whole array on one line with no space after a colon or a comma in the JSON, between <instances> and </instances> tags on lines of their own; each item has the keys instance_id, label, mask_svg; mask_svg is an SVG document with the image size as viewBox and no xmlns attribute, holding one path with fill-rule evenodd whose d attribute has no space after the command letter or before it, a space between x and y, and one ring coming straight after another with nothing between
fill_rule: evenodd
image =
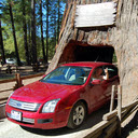
<instances>
[{"instance_id":1,"label":"chrome upper front grille with blue oval badge on the red car","mask_svg":"<svg viewBox=\"0 0 138 138\"><path fill-rule=\"evenodd\" d=\"M18 101L15 99L10 99L9 101L9 106L17 108L17 109L22 109L22 110L27 110L27 111L38 111L38 109L40 108L41 104L33 104L33 102L23 102L23 101Z\"/></svg>"}]
</instances>

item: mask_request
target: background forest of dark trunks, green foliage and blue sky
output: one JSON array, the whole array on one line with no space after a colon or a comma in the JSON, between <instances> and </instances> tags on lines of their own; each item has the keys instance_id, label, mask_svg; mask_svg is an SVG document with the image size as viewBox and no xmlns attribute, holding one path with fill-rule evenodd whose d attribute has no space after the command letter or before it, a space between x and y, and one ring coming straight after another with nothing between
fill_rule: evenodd
<instances>
[{"instance_id":1,"label":"background forest of dark trunks, green foliage and blue sky","mask_svg":"<svg viewBox=\"0 0 138 138\"><path fill-rule=\"evenodd\" d=\"M66 0L0 0L0 58L47 64L55 54Z\"/></svg>"}]
</instances>

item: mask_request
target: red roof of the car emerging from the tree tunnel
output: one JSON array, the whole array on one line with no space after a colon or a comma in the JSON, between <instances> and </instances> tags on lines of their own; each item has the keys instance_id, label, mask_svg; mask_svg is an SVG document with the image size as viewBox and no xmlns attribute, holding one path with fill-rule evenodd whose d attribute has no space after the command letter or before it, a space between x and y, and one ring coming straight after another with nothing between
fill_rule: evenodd
<instances>
[{"instance_id":1,"label":"red roof of the car emerging from the tree tunnel","mask_svg":"<svg viewBox=\"0 0 138 138\"><path fill-rule=\"evenodd\" d=\"M100 61L78 61L78 63L64 64L61 66L98 67L104 65L112 65L112 64L100 63Z\"/></svg>"}]
</instances>

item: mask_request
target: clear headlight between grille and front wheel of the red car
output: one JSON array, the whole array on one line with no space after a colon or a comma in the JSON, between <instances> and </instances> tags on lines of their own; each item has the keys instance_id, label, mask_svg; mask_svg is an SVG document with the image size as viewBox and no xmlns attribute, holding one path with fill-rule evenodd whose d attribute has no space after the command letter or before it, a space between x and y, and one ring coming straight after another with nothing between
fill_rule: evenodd
<instances>
[{"instance_id":1,"label":"clear headlight between grille and front wheel of the red car","mask_svg":"<svg viewBox=\"0 0 138 138\"><path fill-rule=\"evenodd\" d=\"M44 104L42 112L43 113L51 113L55 111L56 105L60 99L53 99Z\"/></svg>"}]
</instances>

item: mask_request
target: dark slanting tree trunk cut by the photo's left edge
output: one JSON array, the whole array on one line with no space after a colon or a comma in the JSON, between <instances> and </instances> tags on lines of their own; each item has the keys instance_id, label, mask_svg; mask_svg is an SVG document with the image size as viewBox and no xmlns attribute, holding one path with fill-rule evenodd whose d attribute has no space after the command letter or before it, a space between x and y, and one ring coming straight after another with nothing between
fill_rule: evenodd
<instances>
[{"instance_id":1,"label":"dark slanting tree trunk cut by the photo's left edge","mask_svg":"<svg viewBox=\"0 0 138 138\"><path fill-rule=\"evenodd\" d=\"M0 19L0 50L1 50L1 55L2 55L2 65L4 65L5 55L4 55L4 46L3 46L3 38L2 38L1 19Z\"/></svg>"}]
</instances>

